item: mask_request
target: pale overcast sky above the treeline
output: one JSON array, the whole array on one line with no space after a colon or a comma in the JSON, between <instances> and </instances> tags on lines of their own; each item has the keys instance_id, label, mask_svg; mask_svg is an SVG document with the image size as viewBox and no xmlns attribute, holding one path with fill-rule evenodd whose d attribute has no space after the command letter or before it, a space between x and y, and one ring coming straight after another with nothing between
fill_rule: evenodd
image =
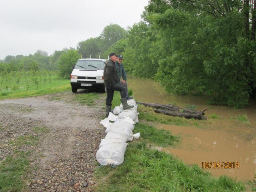
<instances>
[{"instance_id":1,"label":"pale overcast sky above the treeline","mask_svg":"<svg viewBox=\"0 0 256 192\"><path fill-rule=\"evenodd\" d=\"M0 0L0 59L74 47L105 26L140 21L148 0Z\"/></svg>"}]
</instances>

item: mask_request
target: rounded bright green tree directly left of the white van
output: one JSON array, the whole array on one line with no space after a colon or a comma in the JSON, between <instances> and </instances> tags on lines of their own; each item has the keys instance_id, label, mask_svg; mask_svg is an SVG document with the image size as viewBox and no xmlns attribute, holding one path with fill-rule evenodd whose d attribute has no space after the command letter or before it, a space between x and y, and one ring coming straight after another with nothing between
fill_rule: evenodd
<instances>
[{"instance_id":1,"label":"rounded bright green tree directly left of the white van","mask_svg":"<svg viewBox=\"0 0 256 192\"><path fill-rule=\"evenodd\" d=\"M80 59L80 55L77 50L68 50L62 53L58 60L60 76L66 79L70 78L72 66L76 64L78 59Z\"/></svg>"}]
</instances>

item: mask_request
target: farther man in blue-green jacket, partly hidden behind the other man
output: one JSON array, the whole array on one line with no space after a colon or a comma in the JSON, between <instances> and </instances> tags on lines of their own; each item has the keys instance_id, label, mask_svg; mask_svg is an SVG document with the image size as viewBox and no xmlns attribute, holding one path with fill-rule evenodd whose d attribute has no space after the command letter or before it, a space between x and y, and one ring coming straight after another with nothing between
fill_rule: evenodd
<instances>
[{"instance_id":1,"label":"farther man in blue-green jacket, partly hidden behind the other man","mask_svg":"<svg viewBox=\"0 0 256 192\"><path fill-rule=\"evenodd\" d=\"M122 64L123 60L123 55L118 55L117 60L116 60L116 72L117 72L117 78L118 78L118 83L120 83L124 88L126 89L126 99L132 99L132 97L129 97L128 95L128 85L127 85L127 77L126 77L126 72L124 70L124 66ZM121 80L121 76L123 80Z\"/></svg>"}]
</instances>

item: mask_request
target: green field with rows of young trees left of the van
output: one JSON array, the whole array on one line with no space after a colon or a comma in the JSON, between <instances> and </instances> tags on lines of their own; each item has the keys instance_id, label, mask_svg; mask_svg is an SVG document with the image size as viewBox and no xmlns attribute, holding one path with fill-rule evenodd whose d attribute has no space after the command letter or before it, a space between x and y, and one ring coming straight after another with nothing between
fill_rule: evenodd
<instances>
[{"instance_id":1,"label":"green field with rows of young trees left of the van","mask_svg":"<svg viewBox=\"0 0 256 192\"><path fill-rule=\"evenodd\" d=\"M0 76L0 99L40 96L67 90L70 90L70 80L60 78L56 71L12 71Z\"/></svg>"}]
</instances>

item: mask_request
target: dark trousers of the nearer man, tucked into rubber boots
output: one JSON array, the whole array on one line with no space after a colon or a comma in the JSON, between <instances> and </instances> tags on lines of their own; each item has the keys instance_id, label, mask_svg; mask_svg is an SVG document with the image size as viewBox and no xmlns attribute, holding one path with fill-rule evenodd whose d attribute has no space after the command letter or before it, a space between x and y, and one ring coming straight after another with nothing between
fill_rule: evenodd
<instances>
[{"instance_id":1,"label":"dark trousers of the nearer man, tucked into rubber boots","mask_svg":"<svg viewBox=\"0 0 256 192\"><path fill-rule=\"evenodd\" d=\"M110 84L106 83L106 90L107 90L107 98L106 98L106 105L111 106L112 100L114 96L114 91L119 91L121 98L126 98L126 89L120 83Z\"/></svg>"}]
</instances>

